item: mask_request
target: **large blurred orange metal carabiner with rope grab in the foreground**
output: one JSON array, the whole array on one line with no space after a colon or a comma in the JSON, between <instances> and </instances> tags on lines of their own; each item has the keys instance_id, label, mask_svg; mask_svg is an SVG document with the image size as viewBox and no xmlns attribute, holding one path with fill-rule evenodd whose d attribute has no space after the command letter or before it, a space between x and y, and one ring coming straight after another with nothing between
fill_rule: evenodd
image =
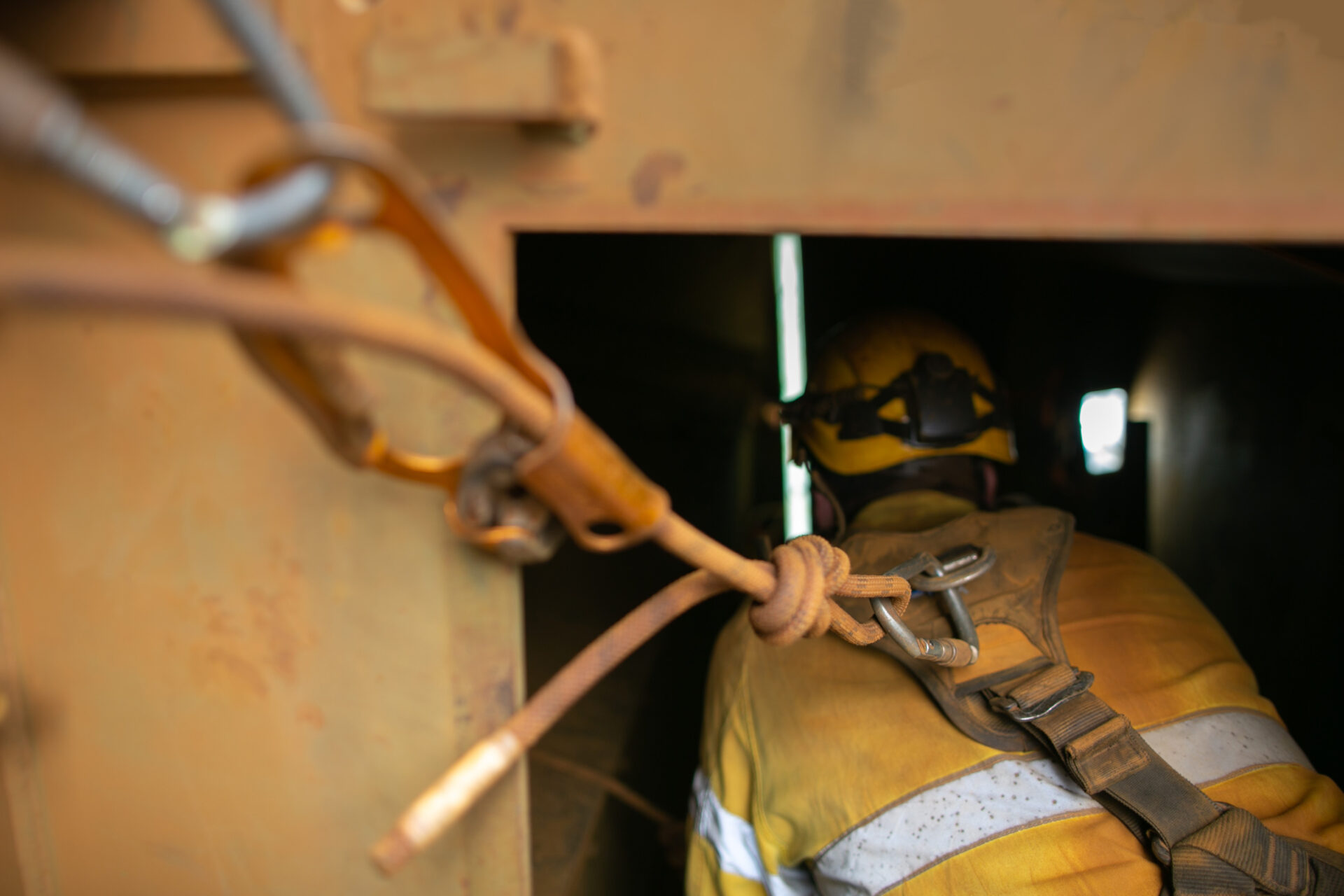
<instances>
[{"instance_id":1,"label":"large blurred orange metal carabiner with rope grab in the foreground","mask_svg":"<svg viewBox=\"0 0 1344 896\"><path fill-rule=\"evenodd\" d=\"M667 492L638 473L620 449L575 410L564 375L532 347L520 328L500 314L480 278L439 230L427 204L431 193L409 165L386 146L356 132L314 125L302 130L298 145L263 164L258 172L284 176L313 163L367 176L376 189L372 214L353 223L333 216L316 220L293 239L274 240L253 253L241 253L234 261L284 275L292 265L293 253L305 244L305 238L316 236L324 227L359 226L399 236L457 308L477 341L551 399L554 423L540 445L515 462L517 484L540 497L574 540L590 551L617 551L649 537L668 514ZM241 336L254 360L344 459L442 488L450 496L445 509L449 524L477 545L497 549L505 543L523 544L520 539L524 535L524 541L535 536L521 551L531 555L534 548L551 544L544 525L530 524L531 535L527 535L516 524L503 523L513 516L503 498L497 502L497 513L480 514L464 508L458 500L466 465L464 458L435 458L395 449L370 418L360 391L349 388L345 371L329 363L323 347L266 333ZM488 442L477 446L477 453L491 450ZM481 466L489 463L482 462ZM489 517L495 519L493 524L485 524ZM501 525L507 525L507 531Z\"/></svg>"}]
</instances>

